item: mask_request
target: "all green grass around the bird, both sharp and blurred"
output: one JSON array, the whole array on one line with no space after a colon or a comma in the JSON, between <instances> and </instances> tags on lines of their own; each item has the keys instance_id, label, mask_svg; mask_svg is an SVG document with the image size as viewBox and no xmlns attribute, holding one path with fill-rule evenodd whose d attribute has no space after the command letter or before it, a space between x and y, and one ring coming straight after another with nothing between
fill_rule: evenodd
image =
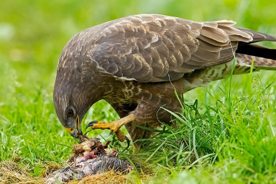
<instances>
[{"instance_id":1,"label":"all green grass around the bird, both sharp and blurred","mask_svg":"<svg viewBox=\"0 0 276 184\"><path fill-rule=\"evenodd\" d=\"M52 88L59 54L77 32L129 14L159 13L196 21L232 19L238 27L276 35L275 10L274 1L257 0L1 2L0 161L19 156L19 165L31 169L70 156L76 141L57 119ZM150 174L137 167L139 174L130 177L137 183L141 173L144 183L276 183L275 81L275 72L259 72L184 94L183 112L173 112L175 126L164 125L152 139L140 140L144 150L137 157L150 163ZM83 128L91 120L117 118L101 101ZM124 149L108 131L89 135ZM121 156L135 161L129 152Z\"/></svg>"}]
</instances>

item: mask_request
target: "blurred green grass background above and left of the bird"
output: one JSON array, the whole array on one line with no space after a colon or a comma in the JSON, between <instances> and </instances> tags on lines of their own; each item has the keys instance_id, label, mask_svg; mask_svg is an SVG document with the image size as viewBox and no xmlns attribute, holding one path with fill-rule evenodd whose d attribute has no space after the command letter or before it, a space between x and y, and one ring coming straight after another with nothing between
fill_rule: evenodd
<instances>
[{"instance_id":1,"label":"blurred green grass background above and left of the bird","mask_svg":"<svg viewBox=\"0 0 276 184\"><path fill-rule=\"evenodd\" d=\"M276 35L275 0L13 0L0 5L0 161L14 154L23 154L30 164L68 156L73 141L57 119L52 89L63 46L83 29L156 13L194 21L231 19L238 27ZM89 119L116 117L104 103L99 107Z\"/></svg>"}]
</instances>

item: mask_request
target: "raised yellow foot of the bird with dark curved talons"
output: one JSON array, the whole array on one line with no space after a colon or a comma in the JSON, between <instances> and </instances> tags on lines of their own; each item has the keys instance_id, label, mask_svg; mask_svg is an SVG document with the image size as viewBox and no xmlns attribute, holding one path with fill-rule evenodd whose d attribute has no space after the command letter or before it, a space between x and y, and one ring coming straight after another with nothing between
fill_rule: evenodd
<instances>
[{"instance_id":1,"label":"raised yellow foot of the bird with dark curved talons","mask_svg":"<svg viewBox=\"0 0 276 184\"><path fill-rule=\"evenodd\" d=\"M128 116L125 116L124 118L118 119L116 121L112 121L110 123L103 122L103 121L91 121L88 123L87 127L91 127L93 130L95 129L109 129L111 130L110 134L116 134L119 141L124 142L124 140L128 141L128 137L124 135L123 132L121 132L120 127L123 125L126 125L126 123L130 123L130 121L133 121L135 119L135 116L133 114L129 114Z\"/></svg>"}]
</instances>

